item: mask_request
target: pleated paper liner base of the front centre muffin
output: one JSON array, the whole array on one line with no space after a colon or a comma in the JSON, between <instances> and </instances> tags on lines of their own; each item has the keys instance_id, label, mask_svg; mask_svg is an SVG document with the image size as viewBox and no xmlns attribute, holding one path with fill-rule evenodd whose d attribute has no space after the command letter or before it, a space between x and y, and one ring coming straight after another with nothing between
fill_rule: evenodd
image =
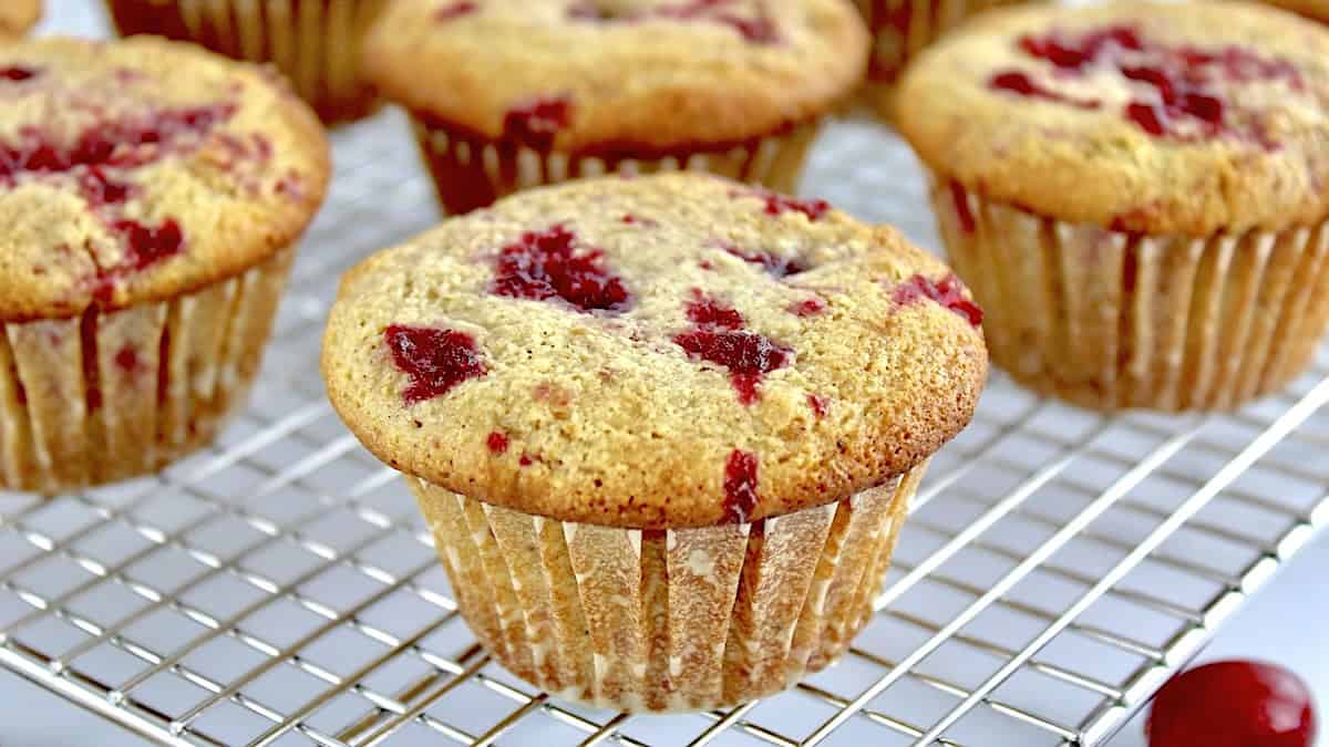
<instances>
[{"instance_id":1,"label":"pleated paper liner base of the front centre muffin","mask_svg":"<svg viewBox=\"0 0 1329 747\"><path fill-rule=\"evenodd\" d=\"M409 479L480 642L565 700L723 708L824 669L872 617L926 464L752 524L638 530L542 518Z\"/></svg>"}]
</instances>

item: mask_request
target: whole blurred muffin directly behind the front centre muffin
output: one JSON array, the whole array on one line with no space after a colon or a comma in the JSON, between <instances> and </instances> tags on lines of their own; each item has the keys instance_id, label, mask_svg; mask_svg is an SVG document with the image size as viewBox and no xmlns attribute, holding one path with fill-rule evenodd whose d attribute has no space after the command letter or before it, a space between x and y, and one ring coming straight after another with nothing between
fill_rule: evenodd
<instances>
[{"instance_id":1,"label":"whole blurred muffin directly behind the front centre muffin","mask_svg":"<svg viewBox=\"0 0 1329 747\"><path fill-rule=\"evenodd\" d=\"M364 65L460 214L603 173L789 191L867 49L844 0L399 0Z\"/></svg>"}]
</instances>

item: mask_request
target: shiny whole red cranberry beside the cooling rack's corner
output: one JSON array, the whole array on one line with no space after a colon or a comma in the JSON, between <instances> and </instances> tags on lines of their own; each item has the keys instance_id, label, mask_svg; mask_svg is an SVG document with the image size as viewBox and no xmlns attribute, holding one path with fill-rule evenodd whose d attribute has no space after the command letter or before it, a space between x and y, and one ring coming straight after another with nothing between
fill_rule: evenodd
<instances>
[{"instance_id":1,"label":"shiny whole red cranberry beside the cooling rack's corner","mask_svg":"<svg viewBox=\"0 0 1329 747\"><path fill-rule=\"evenodd\" d=\"M1310 747L1310 691L1290 671L1257 662L1219 662L1168 681L1146 726L1150 747Z\"/></svg>"}]
</instances>

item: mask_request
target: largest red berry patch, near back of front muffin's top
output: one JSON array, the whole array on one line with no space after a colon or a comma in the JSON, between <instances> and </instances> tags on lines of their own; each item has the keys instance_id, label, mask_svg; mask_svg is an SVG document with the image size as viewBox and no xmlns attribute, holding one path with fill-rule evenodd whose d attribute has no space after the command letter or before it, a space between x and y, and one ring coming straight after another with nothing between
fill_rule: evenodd
<instances>
[{"instance_id":1,"label":"largest red berry patch, near back of front muffin's top","mask_svg":"<svg viewBox=\"0 0 1329 747\"><path fill-rule=\"evenodd\" d=\"M602 266L605 253L578 251L577 243L577 235L562 223L522 234L498 254L492 292L536 300L561 298L582 311L627 310L627 288Z\"/></svg>"}]
</instances>

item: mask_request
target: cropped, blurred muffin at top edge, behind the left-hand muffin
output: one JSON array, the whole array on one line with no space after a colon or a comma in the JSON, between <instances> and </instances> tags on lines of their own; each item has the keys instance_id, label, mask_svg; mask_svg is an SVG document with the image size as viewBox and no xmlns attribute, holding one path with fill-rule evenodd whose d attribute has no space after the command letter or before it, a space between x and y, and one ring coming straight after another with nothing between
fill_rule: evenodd
<instances>
[{"instance_id":1,"label":"cropped, blurred muffin at top edge, behind the left-hand muffin","mask_svg":"<svg viewBox=\"0 0 1329 747\"><path fill-rule=\"evenodd\" d=\"M388 0L106 0L120 33L202 44L275 65L326 122L373 113L360 41Z\"/></svg>"}]
</instances>

